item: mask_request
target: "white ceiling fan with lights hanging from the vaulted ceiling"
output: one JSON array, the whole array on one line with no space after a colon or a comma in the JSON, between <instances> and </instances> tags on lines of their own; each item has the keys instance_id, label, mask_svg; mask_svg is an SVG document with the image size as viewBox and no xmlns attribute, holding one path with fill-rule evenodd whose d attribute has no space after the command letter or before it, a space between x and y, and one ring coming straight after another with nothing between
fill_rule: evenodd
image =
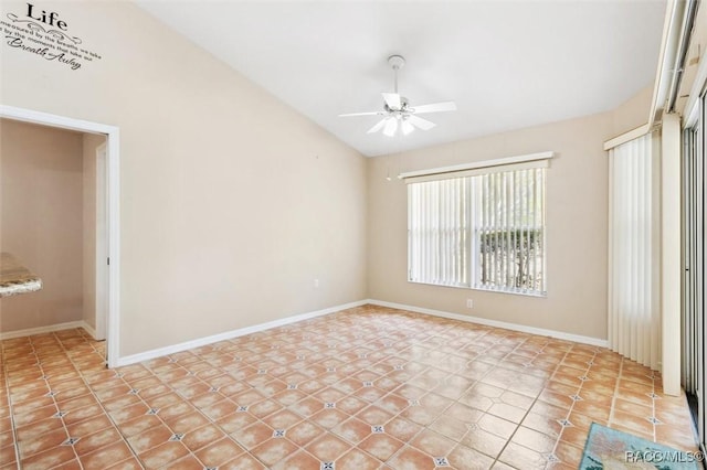
<instances>
[{"instance_id":1,"label":"white ceiling fan with lights hanging from the vaulted ceiling","mask_svg":"<svg viewBox=\"0 0 707 470\"><path fill-rule=\"evenodd\" d=\"M409 135L415 128L422 130L432 129L436 124L423 119L418 115L425 113L440 113L440 111L454 111L456 110L456 104L454 102L432 103L429 105L410 106L410 102L404 96L398 93L398 71L405 65L405 60L401 55L391 55L388 57L388 64L393 68L395 75L394 93L381 93L383 96L383 110L369 111L369 113L350 113L339 115L339 117L349 116L384 116L373 127L368 129L367 133L374 133L379 130L383 130L386 136L392 137L398 129L401 129L403 135Z\"/></svg>"}]
</instances>

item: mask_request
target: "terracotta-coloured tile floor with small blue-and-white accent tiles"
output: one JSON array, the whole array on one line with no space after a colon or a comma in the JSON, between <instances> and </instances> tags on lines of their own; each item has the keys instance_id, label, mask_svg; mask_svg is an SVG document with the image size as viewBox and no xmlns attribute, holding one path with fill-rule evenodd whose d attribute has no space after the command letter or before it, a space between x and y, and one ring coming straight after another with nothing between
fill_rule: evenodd
<instances>
[{"instance_id":1,"label":"terracotta-coloured tile floor with small blue-and-white accent tiles","mask_svg":"<svg viewBox=\"0 0 707 470\"><path fill-rule=\"evenodd\" d=\"M83 330L1 345L0 469L570 469L592 421L696 449L613 352L372 306L117 370Z\"/></svg>"}]
</instances>

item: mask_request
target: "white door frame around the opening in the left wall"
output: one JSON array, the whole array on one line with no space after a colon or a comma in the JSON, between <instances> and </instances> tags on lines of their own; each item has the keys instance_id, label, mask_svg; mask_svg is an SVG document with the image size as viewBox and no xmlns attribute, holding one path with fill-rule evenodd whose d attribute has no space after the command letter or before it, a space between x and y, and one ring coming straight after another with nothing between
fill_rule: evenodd
<instances>
[{"instance_id":1,"label":"white door frame around the opening in the left wall","mask_svg":"<svg viewBox=\"0 0 707 470\"><path fill-rule=\"evenodd\" d=\"M80 132L101 133L106 137L106 223L107 250L110 263L107 269L107 344L108 367L116 367L119 360L120 339L120 130L116 126L74 119L32 109L0 105L0 118L39 124ZM99 178L99 177L98 177ZM107 261L107 260L106 260Z\"/></svg>"}]
</instances>

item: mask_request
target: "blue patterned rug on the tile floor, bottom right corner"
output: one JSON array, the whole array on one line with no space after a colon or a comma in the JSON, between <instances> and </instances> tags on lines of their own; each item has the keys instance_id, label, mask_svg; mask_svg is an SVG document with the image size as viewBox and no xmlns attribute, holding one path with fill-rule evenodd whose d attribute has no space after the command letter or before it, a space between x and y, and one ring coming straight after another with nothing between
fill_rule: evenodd
<instances>
[{"instance_id":1,"label":"blue patterned rug on the tile floor, bottom right corner","mask_svg":"<svg viewBox=\"0 0 707 470\"><path fill-rule=\"evenodd\" d=\"M580 470L701 470L701 453L685 452L592 423Z\"/></svg>"}]
</instances>

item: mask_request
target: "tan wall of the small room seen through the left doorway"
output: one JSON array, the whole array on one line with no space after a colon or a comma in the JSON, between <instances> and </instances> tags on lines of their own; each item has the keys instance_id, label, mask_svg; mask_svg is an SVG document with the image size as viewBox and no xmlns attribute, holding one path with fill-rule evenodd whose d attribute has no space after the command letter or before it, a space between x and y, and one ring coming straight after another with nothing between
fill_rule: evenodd
<instances>
[{"instance_id":1,"label":"tan wall of the small room seen through the left doorway","mask_svg":"<svg viewBox=\"0 0 707 470\"><path fill-rule=\"evenodd\" d=\"M0 120L0 250L43 281L0 299L0 332L82 319L82 136Z\"/></svg>"}]
</instances>

